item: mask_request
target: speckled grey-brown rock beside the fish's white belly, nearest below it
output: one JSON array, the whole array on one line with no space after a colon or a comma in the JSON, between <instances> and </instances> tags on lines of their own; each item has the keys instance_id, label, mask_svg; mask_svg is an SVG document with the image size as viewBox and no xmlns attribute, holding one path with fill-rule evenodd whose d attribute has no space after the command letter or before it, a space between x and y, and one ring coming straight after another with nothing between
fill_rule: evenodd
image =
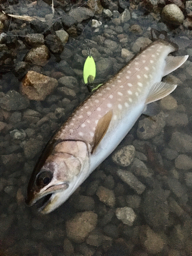
<instances>
[{"instance_id":1,"label":"speckled grey-brown rock beside the fish's white belly, nearest below it","mask_svg":"<svg viewBox=\"0 0 192 256\"><path fill-rule=\"evenodd\" d=\"M129 166L135 157L135 147L133 145L127 145L118 150L112 155L113 161L123 167Z\"/></svg>"}]
</instances>

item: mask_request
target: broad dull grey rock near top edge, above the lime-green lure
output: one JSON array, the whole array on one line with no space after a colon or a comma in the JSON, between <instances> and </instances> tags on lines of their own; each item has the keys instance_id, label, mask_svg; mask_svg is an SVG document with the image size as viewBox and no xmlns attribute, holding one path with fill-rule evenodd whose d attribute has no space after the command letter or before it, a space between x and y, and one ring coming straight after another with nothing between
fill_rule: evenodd
<instances>
[{"instance_id":1,"label":"broad dull grey rock near top edge, above the lime-green lure","mask_svg":"<svg viewBox=\"0 0 192 256\"><path fill-rule=\"evenodd\" d=\"M86 7L73 8L69 12L69 16L75 19L76 23L81 23L83 20L92 17L94 14Z\"/></svg>"}]
</instances>

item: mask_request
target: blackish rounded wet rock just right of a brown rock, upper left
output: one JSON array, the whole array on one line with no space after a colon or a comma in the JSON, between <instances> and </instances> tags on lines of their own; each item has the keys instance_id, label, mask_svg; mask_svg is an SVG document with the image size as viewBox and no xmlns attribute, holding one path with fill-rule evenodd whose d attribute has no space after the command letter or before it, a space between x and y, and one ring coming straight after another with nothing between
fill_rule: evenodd
<instances>
[{"instance_id":1,"label":"blackish rounded wet rock just right of a brown rock, upper left","mask_svg":"<svg viewBox=\"0 0 192 256\"><path fill-rule=\"evenodd\" d=\"M62 52L63 45L58 36L49 34L46 36L45 42L46 42L46 45L49 48L50 52L52 52L54 54L59 54Z\"/></svg>"}]
</instances>

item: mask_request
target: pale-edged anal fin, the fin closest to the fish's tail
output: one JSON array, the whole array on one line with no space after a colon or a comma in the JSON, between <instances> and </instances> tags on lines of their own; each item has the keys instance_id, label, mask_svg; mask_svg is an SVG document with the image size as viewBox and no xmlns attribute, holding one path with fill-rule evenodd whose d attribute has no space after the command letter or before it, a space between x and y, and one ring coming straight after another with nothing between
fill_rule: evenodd
<instances>
[{"instance_id":1,"label":"pale-edged anal fin, the fin closest to the fish's tail","mask_svg":"<svg viewBox=\"0 0 192 256\"><path fill-rule=\"evenodd\" d=\"M185 56L167 56L165 61L165 68L163 71L163 76L168 75L169 73L173 72L174 70L178 69L183 63L187 60L188 55Z\"/></svg>"}]
</instances>

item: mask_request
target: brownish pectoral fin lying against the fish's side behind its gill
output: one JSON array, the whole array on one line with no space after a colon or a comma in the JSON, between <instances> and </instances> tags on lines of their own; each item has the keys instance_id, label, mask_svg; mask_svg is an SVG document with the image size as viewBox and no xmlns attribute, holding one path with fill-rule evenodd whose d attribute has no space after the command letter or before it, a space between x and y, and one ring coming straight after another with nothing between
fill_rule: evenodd
<instances>
[{"instance_id":1,"label":"brownish pectoral fin lying against the fish's side behind its gill","mask_svg":"<svg viewBox=\"0 0 192 256\"><path fill-rule=\"evenodd\" d=\"M95 130L94 145L91 152L92 154L96 150L102 138L104 137L106 131L108 131L112 116L113 111L110 110L108 113L106 113L103 117L99 119Z\"/></svg>"}]
</instances>

